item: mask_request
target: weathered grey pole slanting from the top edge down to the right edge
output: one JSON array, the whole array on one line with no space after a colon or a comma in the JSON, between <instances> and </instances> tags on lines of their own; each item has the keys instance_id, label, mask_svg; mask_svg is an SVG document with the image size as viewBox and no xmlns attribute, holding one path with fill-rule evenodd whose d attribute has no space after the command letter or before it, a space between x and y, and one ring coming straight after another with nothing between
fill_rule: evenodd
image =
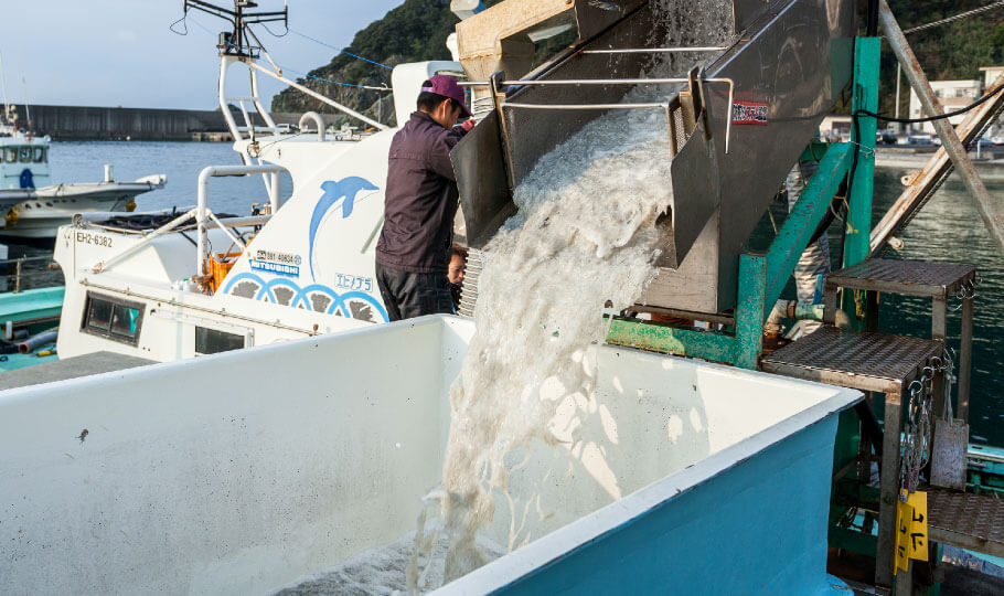
<instances>
[{"instance_id":1,"label":"weathered grey pole slanting from the top edge down to the right edge","mask_svg":"<svg viewBox=\"0 0 1004 596\"><path fill-rule=\"evenodd\" d=\"M910 82L910 86L917 92L923 111L929 116L942 114L941 105L938 98L934 97L934 92L931 89L927 76L920 68L920 63L917 62L917 56L910 50L910 44L907 43L907 39L899 29L899 24L896 22L896 18L893 15L893 11L889 10L889 4L886 0L880 0L878 22L882 25L883 33L889 41L893 53L896 54L896 58L902 65L902 70L906 71L907 81ZM976 211L980 212L987 232L990 232L997 245L1004 248L1004 213L1001 213L1000 207L991 199L986 187L983 185L983 181L976 174L976 169L973 167L972 161L969 160L969 153L966 153L959 137L955 136L949 121L940 119L931 124L941 139L941 146L948 151L955 170L962 178L962 183L965 184L965 189L972 195L976 204ZM864 135L864 130L862 130L862 134ZM874 139L874 135L872 138ZM844 265L846 266L847 264L845 263Z\"/></svg>"}]
</instances>

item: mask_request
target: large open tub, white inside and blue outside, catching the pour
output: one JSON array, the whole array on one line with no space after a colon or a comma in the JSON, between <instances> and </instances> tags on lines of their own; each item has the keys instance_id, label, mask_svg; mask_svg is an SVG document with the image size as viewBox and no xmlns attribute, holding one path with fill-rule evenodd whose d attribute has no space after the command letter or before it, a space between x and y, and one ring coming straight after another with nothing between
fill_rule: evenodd
<instances>
[{"instance_id":1,"label":"large open tub, white inside and blue outside, catching the pour","mask_svg":"<svg viewBox=\"0 0 1004 596\"><path fill-rule=\"evenodd\" d=\"M426 317L0 393L4 592L266 594L398 540L472 332ZM829 593L834 414L859 393L597 358L585 448L535 448L509 487L546 515L500 494L485 529L528 544L441 593Z\"/></svg>"}]
</instances>

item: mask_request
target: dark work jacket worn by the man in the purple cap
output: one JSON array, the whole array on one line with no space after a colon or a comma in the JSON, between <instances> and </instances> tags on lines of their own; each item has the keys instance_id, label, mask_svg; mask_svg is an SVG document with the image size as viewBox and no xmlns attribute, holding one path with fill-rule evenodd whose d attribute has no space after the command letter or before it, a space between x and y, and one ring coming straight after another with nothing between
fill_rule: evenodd
<instances>
[{"instance_id":1,"label":"dark work jacket worn by the man in the purple cap","mask_svg":"<svg viewBox=\"0 0 1004 596\"><path fill-rule=\"evenodd\" d=\"M462 136L421 111L394 135L376 244L376 262L384 267L446 274L460 196L450 150Z\"/></svg>"}]
</instances>

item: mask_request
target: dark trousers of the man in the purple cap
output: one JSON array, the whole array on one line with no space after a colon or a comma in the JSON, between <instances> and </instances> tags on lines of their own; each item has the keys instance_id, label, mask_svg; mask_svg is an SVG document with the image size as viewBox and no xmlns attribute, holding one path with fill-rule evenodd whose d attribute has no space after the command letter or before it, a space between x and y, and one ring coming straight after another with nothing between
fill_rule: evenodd
<instances>
[{"instance_id":1,"label":"dark trousers of the man in the purple cap","mask_svg":"<svg viewBox=\"0 0 1004 596\"><path fill-rule=\"evenodd\" d=\"M376 264L376 286L392 321L423 315L453 313L446 273L410 273Z\"/></svg>"}]
</instances>

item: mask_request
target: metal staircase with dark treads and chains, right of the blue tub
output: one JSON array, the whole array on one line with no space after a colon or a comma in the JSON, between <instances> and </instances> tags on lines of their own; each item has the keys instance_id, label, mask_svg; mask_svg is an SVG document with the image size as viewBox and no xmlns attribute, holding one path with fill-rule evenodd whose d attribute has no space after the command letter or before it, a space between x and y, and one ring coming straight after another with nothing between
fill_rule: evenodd
<instances>
[{"instance_id":1,"label":"metal staircase with dark treads and chains, right of the blue tub","mask_svg":"<svg viewBox=\"0 0 1004 596\"><path fill-rule=\"evenodd\" d=\"M976 275L973 267L948 263L867 259L830 274L826 278L825 321L816 332L792 342L762 358L766 372L821 381L835 385L880 392L884 396L884 427L880 451L878 544L875 582L893 585L896 499L901 488L901 467L918 396L928 396L930 416L941 416L946 405L944 362L946 319L949 301L961 300L962 332L959 359L959 407L965 421L969 405L969 380L972 354L973 298ZM853 331L832 327L837 305L837 290L866 292L868 317L866 330ZM906 338L878 333L878 292L925 296L932 300L931 338ZM868 403L875 404L869 397ZM907 423L904 424L906 417ZM930 427L926 427L930 433ZM867 438L862 428L862 441ZM904 438L906 437L906 438ZM932 437L922 437L930 446ZM927 447L930 450L930 447ZM859 449L858 466L871 470L869 449ZM928 470L930 478L934 470ZM867 476L867 473L865 475ZM993 497L921 486L928 493L929 539L932 543L1004 555L1004 501ZM896 582L898 594L909 594L909 574ZM900 576L902 577L902 576Z\"/></svg>"}]
</instances>

